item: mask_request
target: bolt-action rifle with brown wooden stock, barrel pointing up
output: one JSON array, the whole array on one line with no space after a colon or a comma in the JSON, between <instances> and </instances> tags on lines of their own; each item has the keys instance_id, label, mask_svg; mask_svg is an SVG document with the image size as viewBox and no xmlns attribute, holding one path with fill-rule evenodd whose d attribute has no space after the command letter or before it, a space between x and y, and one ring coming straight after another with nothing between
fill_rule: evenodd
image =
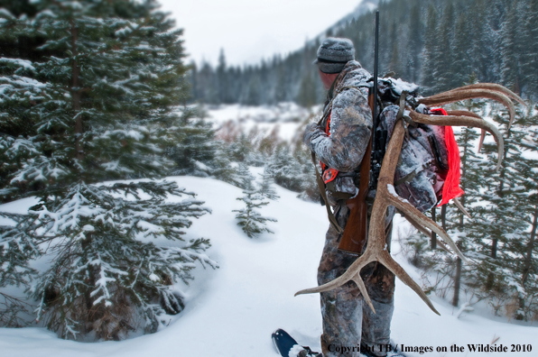
<instances>
[{"instance_id":1,"label":"bolt-action rifle with brown wooden stock, barrel pointing up","mask_svg":"<svg viewBox=\"0 0 538 357\"><path fill-rule=\"evenodd\" d=\"M370 186L370 166L373 164L373 185L376 186L379 169L381 168L381 159L378 156L376 148L376 128L377 128L377 62L378 62L378 47L379 47L379 10L376 11L376 42L374 50L374 86L370 87L368 94L368 105L372 110L373 126L370 142L366 147L365 156L360 164L360 183L356 197L348 199L346 205L349 207L348 224L344 229L342 238L339 243L339 251L360 254L366 243L368 206L366 204L366 196ZM374 159L372 160L372 143L374 143Z\"/></svg>"}]
</instances>

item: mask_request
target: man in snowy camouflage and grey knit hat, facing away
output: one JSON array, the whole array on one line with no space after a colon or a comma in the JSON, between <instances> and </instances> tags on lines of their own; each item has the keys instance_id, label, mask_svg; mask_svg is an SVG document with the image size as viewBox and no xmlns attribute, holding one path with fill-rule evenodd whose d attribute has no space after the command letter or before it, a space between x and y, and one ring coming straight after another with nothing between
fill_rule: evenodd
<instances>
[{"instance_id":1,"label":"man in snowy camouflage and grey knit hat, facing away","mask_svg":"<svg viewBox=\"0 0 538 357\"><path fill-rule=\"evenodd\" d=\"M323 119L320 124L306 127L303 142L320 160L327 200L343 229L349 216L346 202L357 194L358 169L372 133L372 111L367 100L367 81L372 76L355 60L355 49L348 39L323 41L314 63L329 92ZM385 219L389 251L394 216L394 207L390 208ZM357 259L357 255L339 251L340 237L330 224L318 270L320 285L339 277ZM376 314L366 305L353 282L320 294L324 357L339 356L337 347L340 346L351 348L349 356L360 356L357 346L369 356L387 354L385 346L390 344L394 311L394 274L373 262L362 270L361 276Z\"/></svg>"}]
</instances>

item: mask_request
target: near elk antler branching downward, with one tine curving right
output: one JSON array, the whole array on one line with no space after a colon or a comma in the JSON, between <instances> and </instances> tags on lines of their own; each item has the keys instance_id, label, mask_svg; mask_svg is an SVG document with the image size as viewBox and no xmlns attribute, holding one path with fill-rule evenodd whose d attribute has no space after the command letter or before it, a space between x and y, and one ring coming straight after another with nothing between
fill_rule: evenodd
<instances>
[{"instance_id":1,"label":"near elk antler branching downward, with one tine curving right","mask_svg":"<svg viewBox=\"0 0 538 357\"><path fill-rule=\"evenodd\" d=\"M478 126L493 133L500 146L500 152L502 152L503 139L496 130L496 127L492 124L488 124L486 121L478 118L463 117L463 116L430 116L424 114L418 114L411 112L410 116L418 123L424 124L437 124L437 125L466 125L466 126ZM377 183L376 200L372 208L372 214L370 218L370 228L368 232L368 243L366 245L366 252L357 258L339 278L329 281L317 288L307 288L301 290L295 294L311 294L328 291L333 288L347 283L349 280L353 280L365 298L366 303L374 312L375 309L372 302L366 292L366 287L363 280L360 277L360 270L371 261L379 261L388 270L391 270L398 279L401 279L405 285L413 288L419 297L431 308L431 310L440 315L439 312L433 307L430 299L424 294L422 288L411 279L411 277L405 272L405 270L391 257L390 253L386 249L385 244L385 212L388 206L394 206L404 213L405 217L413 222L413 225L417 226L421 231L430 230L437 233L444 242L450 245L453 252L456 252L462 261L468 262L467 258L459 252L456 244L450 239L448 233L445 232L438 224L433 222L430 218L423 215L418 209L412 206L404 198L399 197L394 190L394 171L400 157L400 151L402 151L402 144L404 142L404 125L401 124L401 120L394 126L394 132L388 144L383 165L379 173L379 181ZM502 155L499 155L501 158ZM427 231L426 231L427 232Z\"/></svg>"}]
</instances>

